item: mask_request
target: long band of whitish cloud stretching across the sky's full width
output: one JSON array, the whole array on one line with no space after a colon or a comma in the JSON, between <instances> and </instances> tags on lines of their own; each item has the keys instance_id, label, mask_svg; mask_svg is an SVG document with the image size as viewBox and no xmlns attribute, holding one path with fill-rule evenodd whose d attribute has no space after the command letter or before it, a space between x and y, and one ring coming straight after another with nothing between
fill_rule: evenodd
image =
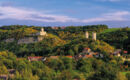
<instances>
[{"instance_id":1,"label":"long band of whitish cloud stretching across the sky's full width","mask_svg":"<svg viewBox=\"0 0 130 80\"><path fill-rule=\"evenodd\" d=\"M0 7L0 19L16 19L16 20L32 20L40 22L102 22L102 21L124 21L127 20L125 16L129 16L128 11L118 11L113 13L103 14L96 18L77 19L69 16L45 14L42 12L28 10L15 7ZM87 15L86 15L87 16Z\"/></svg>"}]
</instances>

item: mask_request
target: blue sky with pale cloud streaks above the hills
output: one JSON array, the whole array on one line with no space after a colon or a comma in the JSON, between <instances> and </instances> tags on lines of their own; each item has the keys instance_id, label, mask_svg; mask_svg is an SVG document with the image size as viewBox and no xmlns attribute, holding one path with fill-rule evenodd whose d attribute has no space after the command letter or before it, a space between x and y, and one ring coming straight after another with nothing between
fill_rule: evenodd
<instances>
[{"instance_id":1,"label":"blue sky with pale cloud streaks above the hills","mask_svg":"<svg viewBox=\"0 0 130 80\"><path fill-rule=\"evenodd\" d=\"M0 0L0 26L130 26L130 0Z\"/></svg>"}]
</instances>

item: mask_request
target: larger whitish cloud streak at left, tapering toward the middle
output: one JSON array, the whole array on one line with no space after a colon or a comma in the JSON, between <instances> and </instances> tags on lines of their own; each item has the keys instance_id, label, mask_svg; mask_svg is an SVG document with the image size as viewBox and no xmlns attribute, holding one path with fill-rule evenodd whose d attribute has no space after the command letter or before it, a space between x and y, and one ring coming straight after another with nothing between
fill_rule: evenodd
<instances>
[{"instance_id":1,"label":"larger whitish cloud streak at left, tapering toward the middle","mask_svg":"<svg viewBox=\"0 0 130 80\"><path fill-rule=\"evenodd\" d=\"M26 10L14 7L0 7L0 19L34 20L43 22L67 22L76 21L68 16L44 14L38 11Z\"/></svg>"}]
</instances>

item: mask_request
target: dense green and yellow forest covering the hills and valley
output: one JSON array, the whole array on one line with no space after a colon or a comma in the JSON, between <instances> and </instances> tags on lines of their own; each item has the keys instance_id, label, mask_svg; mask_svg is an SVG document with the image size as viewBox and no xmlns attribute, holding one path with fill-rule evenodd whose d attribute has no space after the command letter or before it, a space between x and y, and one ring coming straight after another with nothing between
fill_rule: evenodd
<instances>
[{"instance_id":1,"label":"dense green and yellow forest covering the hills and valley","mask_svg":"<svg viewBox=\"0 0 130 80\"><path fill-rule=\"evenodd\" d=\"M9 70L14 69L9 80L130 80L130 61L123 60L130 58L130 28L112 30L107 25L86 25L44 29L48 35L42 41L18 44L19 39L32 37L41 27L0 27L0 75L9 75ZM86 31L90 33L89 39L85 37ZM97 33L96 41L92 32ZM11 38L14 41L6 42ZM85 48L103 57L76 58L86 55ZM117 49L121 49L120 57L111 55ZM29 56L46 60L29 61Z\"/></svg>"}]
</instances>

